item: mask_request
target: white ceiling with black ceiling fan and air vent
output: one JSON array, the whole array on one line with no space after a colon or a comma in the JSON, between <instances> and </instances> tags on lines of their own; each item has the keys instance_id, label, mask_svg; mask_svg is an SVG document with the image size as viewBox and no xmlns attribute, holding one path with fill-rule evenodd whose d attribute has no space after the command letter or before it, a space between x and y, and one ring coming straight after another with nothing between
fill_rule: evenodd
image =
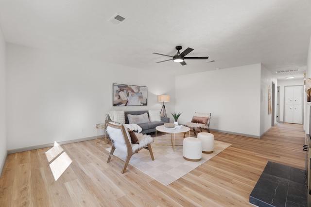
<instances>
[{"instance_id":1,"label":"white ceiling with black ceiling fan and air vent","mask_svg":"<svg viewBox=\"0 0 311 207\"><path fill-rule=\"evenodd\" d=\"M108 21L116 13L120 25ZM65 50L143 70L187 74L261 63L303 77L311 0L0 0L7 42ZM190 47L182 66L174 55ZM214 63L207 61L215 60Z\"/></svg>"}]
</instances>

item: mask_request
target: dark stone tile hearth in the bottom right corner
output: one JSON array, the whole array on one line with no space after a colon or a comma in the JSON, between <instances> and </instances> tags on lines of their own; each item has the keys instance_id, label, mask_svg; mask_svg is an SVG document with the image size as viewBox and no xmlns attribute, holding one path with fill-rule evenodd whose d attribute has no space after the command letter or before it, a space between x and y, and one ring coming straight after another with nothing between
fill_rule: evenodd
<instances>
[{"instance_id":1,"label":"dark stone tile hearth in the bottom right corner","mask_svg":"<svg viewBox=\"0 0 311 207\"><path fill-rule=\"evenodd\" d=\"M249 202L259 207L307 207L305 170L269 161Z\"/></svg>"}]
</instances>

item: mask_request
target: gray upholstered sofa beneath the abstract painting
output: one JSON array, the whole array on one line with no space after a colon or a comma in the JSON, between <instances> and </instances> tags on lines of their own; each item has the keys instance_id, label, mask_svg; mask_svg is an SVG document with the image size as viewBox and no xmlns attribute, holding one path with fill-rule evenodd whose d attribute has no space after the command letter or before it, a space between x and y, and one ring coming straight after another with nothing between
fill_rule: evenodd
<instances>
[{"instance_id":1,"label":"gray upholstered sofa beneath the abstract painting","mask_svg":"<svg viewBox=\"0 0 311 207\"><path fill-rule=\"evenodd\" d=\"M148 110L147 111L124 111L125 124L129 124L127 114L140 115L140 114L143 114L143 113L146 113L146 112L147 112L148 117L149 117ZM170 122L170 118L169 117L161 116L161 121L160 122L149 122L149 123L138 124L138 125L139 125L139 127L142 128L142 131L140 133L148 134L148 133L151 133L151 132L155 132L155 127L160 126L160 125L164 125L164 123L169 123L169 122Z\"/></svg>"}]
</instances>

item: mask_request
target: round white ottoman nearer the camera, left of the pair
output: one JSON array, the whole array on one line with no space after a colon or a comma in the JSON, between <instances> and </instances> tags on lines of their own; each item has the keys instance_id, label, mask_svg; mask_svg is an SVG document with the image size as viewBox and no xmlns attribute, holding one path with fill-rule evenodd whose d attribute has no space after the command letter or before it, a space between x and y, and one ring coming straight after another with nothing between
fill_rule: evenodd
<instances>
[{"instance_id":1,"label":"round white ottoman nearer the camera, left of the pair","mask_svg":"<svg viewBox=\"0 0 311 207\"><path fill-rule=\"evenodd\" d=\"M183 142L183 156L189 161L200 161L202 158L202 141L198 138L187 137Z\"/></svg>"}]
</instances>

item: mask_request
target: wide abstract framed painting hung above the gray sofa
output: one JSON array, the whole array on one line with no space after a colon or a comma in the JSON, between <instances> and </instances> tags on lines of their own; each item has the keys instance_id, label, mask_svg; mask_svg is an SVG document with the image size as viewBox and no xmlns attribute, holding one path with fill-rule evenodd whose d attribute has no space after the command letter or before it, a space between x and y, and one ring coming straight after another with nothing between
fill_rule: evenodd
<instances>
[{"instance_id":1,"label":"wide abstract framed painting hung above the gray sofa","mask_svg":"<svg viewBox=\"0 0 311 207\"><path fill-rule=\"evenodd\" d=\"M147 86L112 84L112 106L147 106Z\"/></svg>"}]
</instances>

